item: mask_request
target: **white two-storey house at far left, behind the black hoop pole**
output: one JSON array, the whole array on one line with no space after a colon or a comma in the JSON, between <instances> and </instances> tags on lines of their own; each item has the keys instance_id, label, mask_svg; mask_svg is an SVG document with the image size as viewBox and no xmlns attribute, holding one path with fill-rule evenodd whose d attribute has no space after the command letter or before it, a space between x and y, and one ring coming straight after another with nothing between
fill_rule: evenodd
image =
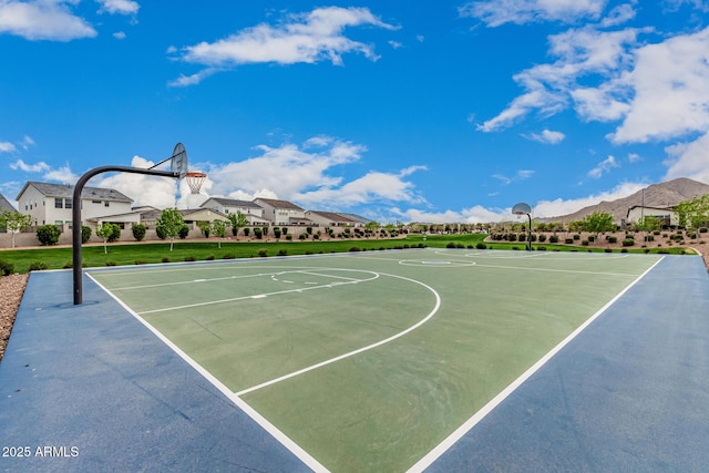
<instances>
[{"instance_id":1,"label":"white two-storey house at far left, behind the black hoop pole","mask_svg":"<svg viewBox=\"0 0 709 473\"><path fill-rule=\"evenodd\" d=\"M72 225L74 186L28 182L17 197L19 210L32 217L32 225ZM112 188L84 187L81 194L82 220L131 214L133 199ZM113 219L111 220L113 222Z\"/></svg>"}]
</instances>

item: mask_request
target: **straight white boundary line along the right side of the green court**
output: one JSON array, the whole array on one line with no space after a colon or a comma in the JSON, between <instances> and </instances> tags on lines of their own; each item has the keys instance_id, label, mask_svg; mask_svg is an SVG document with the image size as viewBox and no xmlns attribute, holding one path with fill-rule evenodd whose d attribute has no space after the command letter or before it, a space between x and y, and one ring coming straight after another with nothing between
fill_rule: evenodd
<instances>
[{"instance_id":1,"label":"straight white boundary line along the right side of the green court","mask_svg":"<svg viewBox=\"0 0 709 473\"><path fill-rule=\"evenodd\" d=\"M616 297L610 299L605 306L603 306L596 313L590 316L588 320L582 323L576 330L574 330L568 337L562 340L556 347L554 347L548 353L542 357L536 363L534 363L528 370L526 370L522 376L520 376L516 380L514 380L510 385L507 385L504 390L502 390L497 395L495 395L490 402L487 402L483 408L475 412L475 414L470 418L463 425L458 428L452 434L450 434L443 442L441 442L438 446L435 446L431 452L429 452L424 457L419 460L413 466L411 466L408 472L418 473L422 472L433 462L435 462L441 455L443 455L451 446L453 446L459 440L463 438L471 429L473 429L485 415L493 411L502 401L504 401L510 394L512 394L522 383L524 383L527 379L530 379L535 372L537 372L544 364L546 364L556 353L558 353L564 347L566 347L573 339L575 339L582 331L586 329L594 320L596 320L603 312L608 310L610 306L613 306L620 297L623 297L633 286L635 286L640 279L643 279L648 273L650 273L665 257L662 256L658 259L653 266L650 266L645 273L638 276L633 282L626 286Z\"/></svg>"}]
</instances>

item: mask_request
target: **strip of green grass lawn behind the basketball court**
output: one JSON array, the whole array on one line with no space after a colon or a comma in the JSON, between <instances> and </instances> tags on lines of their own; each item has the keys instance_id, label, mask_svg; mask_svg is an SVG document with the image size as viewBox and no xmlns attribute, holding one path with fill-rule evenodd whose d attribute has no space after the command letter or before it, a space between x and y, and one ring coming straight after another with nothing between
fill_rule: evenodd
<instances>
[{"instance_id":1,"label":"strip of green grass lawn behind the basketball court","mask_svg":"<svg viewBox=\"0 0 709 473\"><path fill-rule=\"evenodd\" d=\"M433 248L475 248L487 235L408 235L397 239L358 239L350 238L335 241L223 241L222 247L217 239L210 241L176 240L174 249L169 250L169 243L145 244L110 244L107 254L104 254L103 245L84 246L82 250L84 267L97 266L125 266L145 265L157 263L177 263L185 260L225 259L225 258L255 258L259 256L278 255L310 255L326 253L343 253L351 250L382 250L405 249L409 247ZM524 250L526 243L485 243L489 249ZM604 248L586 248L582 246L537 244L534 249L544 247L547 251L605 251ZM263 251L266 251L265 255ZM618 251L618 250L615 250ZM675 255L693 253L687 248L651 248L648 253L670 253ZM645 249L629 248L628 253L646 253ZM70 268L72 263L71 247L41 247L37 249L2 249L0 261L12 265L13 271L24 274L35 269L62 269Z\"/></svg>"}]
</instances>

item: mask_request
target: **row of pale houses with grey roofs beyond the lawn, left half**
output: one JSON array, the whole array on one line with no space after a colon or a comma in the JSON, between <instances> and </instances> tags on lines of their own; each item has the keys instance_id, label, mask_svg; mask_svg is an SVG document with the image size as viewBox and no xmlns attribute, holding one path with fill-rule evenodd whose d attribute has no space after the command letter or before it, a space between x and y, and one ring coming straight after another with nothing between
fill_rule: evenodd
<instances>
[{"instance_id":1,"label":"row of pale houses with grey roofs beyond the lawn, left half","mask_svg":"<svg viewBox=\"0 0 709 473\"><path fill-rule=\"evenodd\" d=\"M72 226L74 187L63 184L28 182L17 196L18 210L30 215L33 226L53 224L70 229ZM12 205L0 195L0 204ZM162 209L155 207L133 207L133 199L112 188L84 187L81 196L82 225L96 228L109 222L121 228L132 224L143 224L154 228ZM2 204L3 206L6 204ZM209 197L198 208L179 210L185 222L228 220L229 214L242 213L251 226L322 226L362 227L368 218L356 214L305 210L288 200L256 198L238 200L225 197Z\"/></svg>"}]
</instances>

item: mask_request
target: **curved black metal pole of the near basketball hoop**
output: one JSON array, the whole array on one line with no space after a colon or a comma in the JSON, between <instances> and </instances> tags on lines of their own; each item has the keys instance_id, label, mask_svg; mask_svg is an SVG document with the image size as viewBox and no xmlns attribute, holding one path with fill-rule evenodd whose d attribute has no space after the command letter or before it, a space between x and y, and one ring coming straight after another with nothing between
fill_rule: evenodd
<instances>
[{"instance_id":1,"label":"curved black metal pole of the near basketball hoop","mask_svg":"<svg viewBox=\"0 0 709 473\"><path fill-rule=\"evenodd\" d=\"M79 181L76 181L76 185L74 187L74 196L73 196L73 207L72 207L72 247L73 247L73 273L74 273L74 306L79 306L83 304L83 281L82 281L82 260L81 260L81 192L84 188L84 185L89 182L90 178L95 176L96 174L107 173L111 171L117 171L122 173L134 173L134 174L148 174L151 176L163 176L163 177L179 177L179 171L156 171L156 169L144 169L140 167L129 167L129 166L101 166L94 169L89 171L86 174L81 176Z\"/></svg>"}]
</instances>

